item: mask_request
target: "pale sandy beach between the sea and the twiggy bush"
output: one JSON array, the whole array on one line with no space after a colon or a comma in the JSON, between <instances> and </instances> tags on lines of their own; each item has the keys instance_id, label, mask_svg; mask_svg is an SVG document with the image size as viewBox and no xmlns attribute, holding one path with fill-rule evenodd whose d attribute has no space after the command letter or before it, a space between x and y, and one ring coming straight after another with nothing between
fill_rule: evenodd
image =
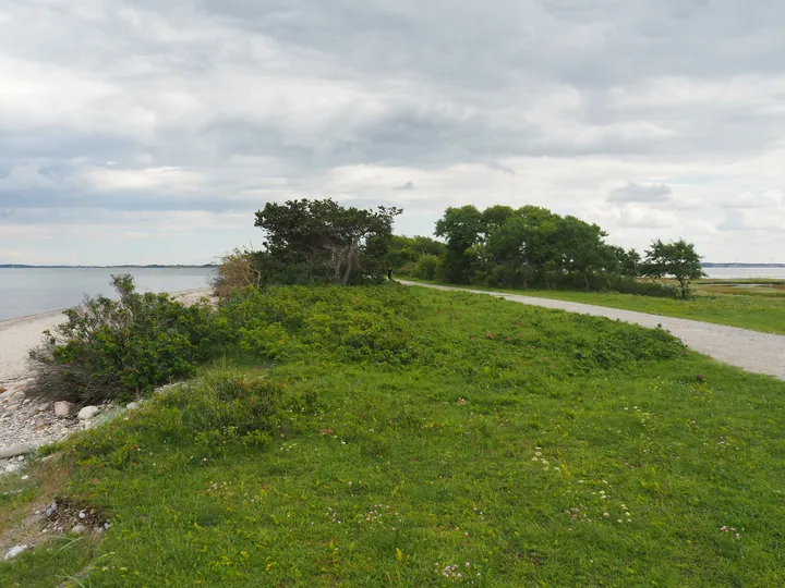
<instances>
[{"instance_id":1,"label":"pale sandy beach between the sea and the twiggy bush","mask_svg":"<svg viewBox=\"0 0 785 588\"><path fill-rule=\"evenodd\" d=\"M212 299L210 292L210 287L200 287L171 292L170 295L190 305L202 297ZM27 353L40 343L44 331L63 322L64 310L0 320L0 388L12 391L24 385L27 380Z\"/></svg>"}]
</instances>

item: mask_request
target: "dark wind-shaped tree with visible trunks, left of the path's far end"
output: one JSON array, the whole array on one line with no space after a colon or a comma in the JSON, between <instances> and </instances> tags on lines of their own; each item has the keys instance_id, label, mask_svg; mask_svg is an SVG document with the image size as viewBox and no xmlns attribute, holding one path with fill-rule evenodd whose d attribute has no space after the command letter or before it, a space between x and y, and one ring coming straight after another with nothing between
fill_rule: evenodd
<instances>
[{"instance_id":1,"label":"dark wind-shaped tree with visible trunks, left of the path's far end","mask_svg":"<svg viewBox=\"0 0 785 588\"><path fill-rule=\"evenodd\" d=\"M345 208L331 199L267 203L255 225L265 232L259 256L265 281L382 279L395 217L402 210Z\"/></svg>"}]
</instances>

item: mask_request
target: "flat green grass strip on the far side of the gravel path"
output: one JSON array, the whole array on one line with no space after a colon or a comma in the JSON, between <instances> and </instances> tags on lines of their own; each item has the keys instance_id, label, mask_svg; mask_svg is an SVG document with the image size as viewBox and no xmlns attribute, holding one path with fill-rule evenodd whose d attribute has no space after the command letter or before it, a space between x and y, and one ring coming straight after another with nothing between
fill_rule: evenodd
<instances>
[{"instance_id":1,"label":"flat green grass strip on the far side of the gravel path","mask_svg":"<svg viewBox=\"0 0 785 588\"><path fill-rule=\"evenodd\" d=\"M423 280L413 280L423 282ZM430 282L428 282L430 283ZM473 290L493 290L523 296L569 301L651 315L740 327L764 333L785 334L785 283L761 282L753 287L749 281L711 281L693 285L695 295L688 301L637 296L613 292L570 292L558 290L504 290L467 286Z\"/></svg>"}]
</instances>

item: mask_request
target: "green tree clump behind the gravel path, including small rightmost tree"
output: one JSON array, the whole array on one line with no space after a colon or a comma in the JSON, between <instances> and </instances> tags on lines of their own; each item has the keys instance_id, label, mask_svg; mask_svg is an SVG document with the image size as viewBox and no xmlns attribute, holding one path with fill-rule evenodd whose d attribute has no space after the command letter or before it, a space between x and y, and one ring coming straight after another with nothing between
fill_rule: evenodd
<instances>
[{"instance_id":1,"label":"green tree clump behind the gravel path, including small rightmost tree","mask_svg":"<svg viewBox=\"0 0 785 588\"><path fill-rule=\"evenodd\" d=\"M655 241L645 257L605 242L599 225L546 208L447 208L435 236L394 236L389 259L398 273L455 284L495 287L616 290L674 296L662 283L639 277L673 275L687 295L700 277L700 257L684 241Z\"/></svg>"}]
</instances>

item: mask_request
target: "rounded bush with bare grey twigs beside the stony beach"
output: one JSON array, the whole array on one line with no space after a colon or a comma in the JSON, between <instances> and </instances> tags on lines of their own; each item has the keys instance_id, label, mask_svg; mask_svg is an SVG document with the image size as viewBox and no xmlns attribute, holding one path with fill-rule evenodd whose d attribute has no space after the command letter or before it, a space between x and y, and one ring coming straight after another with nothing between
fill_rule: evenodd
<instances>
[{"instance_id":1,"label":"rounded bush with bare grey twigs beside the stony beach","mask_svg":"<svg viewBox=\"0 0 785 588\"><path fill-rule=\"evenodd\" d=\"M128 274L111 283L118 299L86 298L31 352L32 395L84 405L146 393L226 348L226 321L207 303L140 294Z\"/></svg>"}]
</instances>

